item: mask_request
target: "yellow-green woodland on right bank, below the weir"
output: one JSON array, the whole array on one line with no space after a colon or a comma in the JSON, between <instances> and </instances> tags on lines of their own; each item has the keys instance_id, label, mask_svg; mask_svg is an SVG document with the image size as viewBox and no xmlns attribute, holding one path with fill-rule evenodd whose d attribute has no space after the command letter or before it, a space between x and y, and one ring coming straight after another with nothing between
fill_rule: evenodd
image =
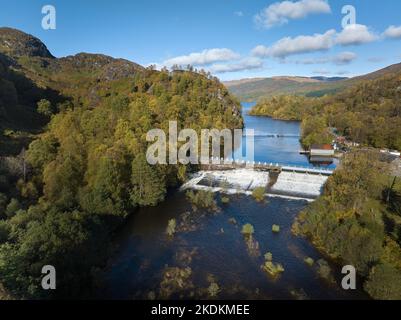
<instances>
[{"instance_id":1,"label":"yellow-green woodland on right bank, below the weir","mask_svg":"<svg viewBox=\"0 0 401 320\"><path fill-rule=\"evenodd\" d=\"M375 151L346 155L293 231L353 265L375 299L401 299L401 182ZM361 283L358 284L359 286Z\"/></svg>"}]
</instances>

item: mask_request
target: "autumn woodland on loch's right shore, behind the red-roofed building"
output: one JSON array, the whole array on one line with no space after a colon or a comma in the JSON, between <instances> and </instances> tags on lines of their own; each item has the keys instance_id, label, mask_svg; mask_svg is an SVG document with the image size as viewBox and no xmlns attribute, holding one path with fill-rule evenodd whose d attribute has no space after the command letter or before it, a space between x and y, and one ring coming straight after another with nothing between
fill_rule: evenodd
<instances>
[{"instance_id":1,"label":"autumn woodland on loch's right shore, behind the red-roofed building","mask_svg":"<svg viewBox=\"0 0 401 320\"><path fill-rule=\"evenodd\" d=\"M252 115L302 120L302 143L327 143L329 128L365 146L401 150L401 73L363 80L322 98L279 96L262 100Z\"/></svg>"}]
</instances>

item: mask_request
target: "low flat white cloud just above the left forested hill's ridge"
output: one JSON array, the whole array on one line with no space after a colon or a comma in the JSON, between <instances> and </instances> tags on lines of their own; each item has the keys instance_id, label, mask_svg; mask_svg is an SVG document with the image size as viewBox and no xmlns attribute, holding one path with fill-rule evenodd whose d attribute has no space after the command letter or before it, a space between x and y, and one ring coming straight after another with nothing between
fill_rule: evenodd
<instances>
[{"instance_id":1,"label":"low flat white cloud just above the left forested hill's ridge","mask_svg":"<svg viewBox=\"0 0 401 320\"><path fill-rule=\"evenodd\" d=\"M173 65L186 66L188 64L194 66L204 66L214 62L229 61L239 58L240 55L230 49L216 48L206 49L202 52L193 52L186 56L168 59L163 62L163 65L166 67L172 67Z\"/></svg>"}]
</instances>

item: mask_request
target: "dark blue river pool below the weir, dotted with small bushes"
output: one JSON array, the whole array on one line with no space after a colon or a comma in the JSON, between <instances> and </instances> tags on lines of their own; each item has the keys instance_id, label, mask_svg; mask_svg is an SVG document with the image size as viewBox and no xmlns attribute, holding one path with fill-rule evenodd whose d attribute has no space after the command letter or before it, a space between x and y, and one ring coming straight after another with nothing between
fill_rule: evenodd
<instances>
[{"instance_id":1,"label":"dark blue river pool below the weir, dotted with small bushes","mask_svg":"<svg viewBox=\"0 0 401 320\"><path fill-rule=\"evenodd\" d=\"M119 249L106 271L101 295L147 299L149 292L155 292L158 297L163 269L178 266L192 269L192 287L184 287L170 298L207 298L210 277L220 287L220 299L294 299L299 292L308 299L366 298L360 291L341 290L339 280L330 284L319 278L316 268L304 262L306 257L315 261L321 258L305 239L291 233L294 218L306 205L280 198L257 203L241 195L231 196L228 204L220 203L222 210L218 213L201 213L193 212L185 195L178 192L158 207L139 210L129 220L117 239ZM165 233L169 219L175 218L179 224L185 212L195 217L196 230L177 232L169 239ZM246 223L255 227L259 257L251 257L247 250L241 234ZM272 232L273 224L280 226L280 233ZM177 260L180 254L191 251L190 259ZM271 252L273 260L285 269L275 280L260 268L266 252ZM338 268L332 270L340 276Z\"/></svg>"}]
</instances>

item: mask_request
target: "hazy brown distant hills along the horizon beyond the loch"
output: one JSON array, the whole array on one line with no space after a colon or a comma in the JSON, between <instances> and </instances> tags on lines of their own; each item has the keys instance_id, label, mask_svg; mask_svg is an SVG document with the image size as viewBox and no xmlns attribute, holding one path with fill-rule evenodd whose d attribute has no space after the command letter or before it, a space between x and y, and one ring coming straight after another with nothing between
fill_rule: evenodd
<instances>
[{"instance_id":1,"label":"hazy brown distant hills along the horizon beyond the loch","mask_svg":"<svg viewBox=\"0 0 401 320\"><path fill-rule=\"evenodd\" d=\"M257 101L275 95L320 97L334 94L363 80L375 80L384 75L401 73L401 63L354 78L344 77L272 77L227 81L224 84L242 101Z\"/></svg>"}]
</instances>

